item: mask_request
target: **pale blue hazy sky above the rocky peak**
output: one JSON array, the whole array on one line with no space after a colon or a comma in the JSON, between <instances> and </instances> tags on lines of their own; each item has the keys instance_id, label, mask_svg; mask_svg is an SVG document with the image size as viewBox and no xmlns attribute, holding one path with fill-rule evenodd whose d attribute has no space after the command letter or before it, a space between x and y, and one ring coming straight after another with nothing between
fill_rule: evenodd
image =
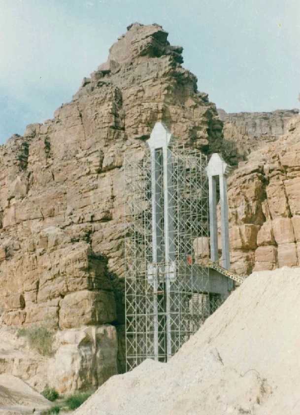
<instances>
[{"instance_id":1,"label":"pale blue hazy sky above the rocky peak","mask_svg":"<svg viewBox=\"0 0 300 415\"><path fill-rule=\"evenodd\" d=\"M0 0L0 144L52 118L133 22L183 46L217 107L299 108L300 0Z\"/></svg>"}]
</instances>

